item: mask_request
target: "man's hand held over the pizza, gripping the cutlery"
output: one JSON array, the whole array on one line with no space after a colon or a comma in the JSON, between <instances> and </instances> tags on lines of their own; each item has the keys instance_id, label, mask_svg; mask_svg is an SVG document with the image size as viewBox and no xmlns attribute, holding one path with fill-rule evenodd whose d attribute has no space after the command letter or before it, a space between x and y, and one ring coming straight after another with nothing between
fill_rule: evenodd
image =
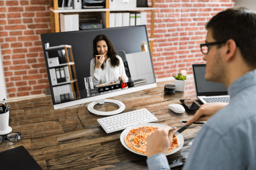
<instances>
[{"instance_id":1,"label":"man's hand held over the pizza, gripping the cutlery","mask_svg":"<svg viewBox=\"0 0 256 170\"><path fill-rule=\"evenodd\" d=\"M158 153L166 154L172 145L173 133L176 128L161 127L147 137L147 157Z\"/></svg>"}]
</instances>

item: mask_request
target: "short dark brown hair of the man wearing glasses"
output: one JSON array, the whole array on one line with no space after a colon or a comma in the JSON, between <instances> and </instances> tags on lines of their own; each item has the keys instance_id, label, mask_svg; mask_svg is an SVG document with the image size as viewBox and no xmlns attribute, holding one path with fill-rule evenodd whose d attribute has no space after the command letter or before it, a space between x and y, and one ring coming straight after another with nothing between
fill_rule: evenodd
<instances>
[{"instance_id":1,"label":"short dark brown hair of the man wearing glasses","mask_svg":"<svg viewBox=\"0 0 256 170\"><path fill-rule=\"evenodd\" d=\"M209 28L212 29L212 37L217 42L234 40L247 64L256 67L256 13L254 11L244 7L227 9L210 19L206 24L206 29Z\"/></svg>"}]
</instances>

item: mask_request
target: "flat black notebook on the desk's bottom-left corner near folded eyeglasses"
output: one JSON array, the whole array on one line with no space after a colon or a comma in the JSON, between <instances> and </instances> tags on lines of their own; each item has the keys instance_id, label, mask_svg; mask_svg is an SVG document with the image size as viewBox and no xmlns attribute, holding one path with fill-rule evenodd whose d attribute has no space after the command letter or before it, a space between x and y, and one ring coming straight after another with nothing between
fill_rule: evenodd
<instances>
[{"instance_id":1,"label":"flat black notebook on the desk's bottom-left corner near folded eyeglasses","mask_svg":"<svg viewBox=\"0 0 256 170\"><path fill-rule=\"evenodd\" d=\"M24 146L0 152L0 160L9 170L42 170Z\"/></svg>"}]
</instances>

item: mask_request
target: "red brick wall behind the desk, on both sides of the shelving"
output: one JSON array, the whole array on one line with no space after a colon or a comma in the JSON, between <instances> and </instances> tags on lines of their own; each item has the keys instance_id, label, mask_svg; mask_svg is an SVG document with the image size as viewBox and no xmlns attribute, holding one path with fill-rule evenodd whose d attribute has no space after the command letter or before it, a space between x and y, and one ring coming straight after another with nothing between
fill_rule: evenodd
<instances>
[{"instance_id":1,"label":"red brick wall behind the desk, on both sides of the shelving","mask_svg":"<svg viewBox=\"0 0 256 170\"><path fill-rule=\"evenodd\" d=\"M170 77L184 69L192 74L191 64L203 62L199 43L205 40L205 23L233 6L234 0L156 0L156 78ZM7 97L40 95L49 87L40 34L50 32L49 0L0 0L1 60Z\"/></svg>"}]
</instances>

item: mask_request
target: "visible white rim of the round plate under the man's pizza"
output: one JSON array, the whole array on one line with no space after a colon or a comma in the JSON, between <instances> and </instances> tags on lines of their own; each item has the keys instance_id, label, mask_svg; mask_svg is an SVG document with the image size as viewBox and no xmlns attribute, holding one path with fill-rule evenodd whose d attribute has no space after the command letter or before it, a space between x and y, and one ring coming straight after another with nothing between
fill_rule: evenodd
<instances>
[{"instance_id":1,"label":"visible white rim of the round plate under the man's pizza","mask_svg":"<svg viewBox=\"0 0 256 170\"><path fill-rule=\"evenodd\" d=\"M133 152L133 153L135 153L135 154L139 154L139 155L142 155L142 156L147 156L146 154L141 154L141 153L139 153L139 152L135 152L134 150L132 150L131 148L129 148L129 147L125 144L125 142L124 142L124 137L125 137L125 135L126 135L131 129L137 128L137 127L143 127L143 126L152 126L152 127L168 127L168 126L162 125L162 124L158 124L158 123L142 123L142 124L137 124L137 125L133 125L133 126L131 126L131 127L128 127L128 128L126 128L126 129L124 129L124 131L121 133L120 141L121 141L122 145L123 145L126 149L130 150L131 152ZM178 144L179 144L179 145L177 146L177 148L175 148L172 152L169 152L169 153L167 153L167 154L165 154L165 155L174 154L175 152L179 151L179 150L182 148L182 146L183 146L183 144L184 144L183 136L182 136L181 134L179 134L179 135L177 135L177 139L178 139Z\"/></svg>"}]
</instances>

